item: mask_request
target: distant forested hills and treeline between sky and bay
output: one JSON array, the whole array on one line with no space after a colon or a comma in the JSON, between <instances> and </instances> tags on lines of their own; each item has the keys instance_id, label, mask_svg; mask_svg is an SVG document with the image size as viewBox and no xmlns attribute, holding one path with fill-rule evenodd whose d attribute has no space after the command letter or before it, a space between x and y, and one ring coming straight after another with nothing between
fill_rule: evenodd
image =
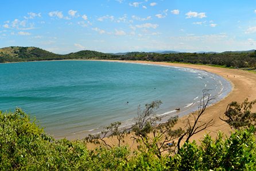
<instances>
[{"instance_id":1,"label":"distant forested hills and treeline between sky and bay","mask_svg":"<svg viewBox=\"0 0 256 171\"><path fill-rule=\"evenodd\" d=\"M222 65L224 67L256 69L256 50L223 53L157 53L127 52L102 53L93 50L82 50L67 55L58 55L36 47L11 46L0 49L0 63L17 61L64 60L64 59L116 59L169 61L191 64Z\"/></svg>"}]
</instances>

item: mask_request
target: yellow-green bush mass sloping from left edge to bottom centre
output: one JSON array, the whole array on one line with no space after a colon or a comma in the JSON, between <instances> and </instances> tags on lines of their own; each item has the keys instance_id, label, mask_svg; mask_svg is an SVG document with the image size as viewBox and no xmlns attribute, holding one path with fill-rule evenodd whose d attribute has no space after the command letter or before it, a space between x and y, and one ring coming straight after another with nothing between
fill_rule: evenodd
<instances>
[{"instance_id":1,"label":"yellow-green bush mass sloping from left edge to bottom centre","mask_svg":"<svg viewBox=\"0 0 256 171\"><path fill-rule=\"evenodd\" d=\"M0 111L1 170L133 170L164 164L154 156L131 154L126 146L90 151L83 141L55 141L19 108Z\"/></svg>"}]
</instances>

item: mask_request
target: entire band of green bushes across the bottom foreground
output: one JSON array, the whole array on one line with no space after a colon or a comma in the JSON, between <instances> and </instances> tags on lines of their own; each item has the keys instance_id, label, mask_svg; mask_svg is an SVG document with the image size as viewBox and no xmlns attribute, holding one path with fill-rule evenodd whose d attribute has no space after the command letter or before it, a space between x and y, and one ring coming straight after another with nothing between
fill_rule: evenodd
<instances>
[{"instance_id":1,"label":"entire band of green bushes across the bottom foreground","mask_svg":"<svg viewBox=\"0 0 256 171\"><path fill-rule=\"evenodd\" d=\"M255 129L239 130L201 145L187 142L178 154L158 158L129 147L88 150L83 141L55 141L20 109L0 111L0 170L255 170Z\"/></svg>"}]
</instances>

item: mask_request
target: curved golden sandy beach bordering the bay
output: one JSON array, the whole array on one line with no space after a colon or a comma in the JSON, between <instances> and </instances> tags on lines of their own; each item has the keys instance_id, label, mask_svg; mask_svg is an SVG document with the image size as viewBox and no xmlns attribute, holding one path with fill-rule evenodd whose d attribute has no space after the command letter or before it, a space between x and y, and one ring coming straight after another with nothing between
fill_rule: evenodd
<instances>
[{"instance_id":1,"label":"curved golden sandy beach bordering the bay","mask_svg":"<svg viewBox=\"0 0 256 171\"><path fill-rule=\"evenodd\" d=\"M211 67L208 65L194 65L194 64L178 64L178 63L165 63L165 62L152 62L152 61L121 61L121 60L100 60L100 61L111 61L111 62L122 62L122 63L143 63L143 64L155 64L155 65L169 65L175 67L185 67L185 68L193 68L193 69L201 69L207 72L215 73L219 76L224 77L228 81L230 81L232 85L232 91L230 94L226 96L226 98L220 100L218 103L207 108L205 114L202 116L201 121L210 121L210 119L214 119L215 125L209 127L205 131L201 131L200 133L194 135L192 139L199 141L203 138L204 134L208 133L212 137L216 137L218 131L222 131L224 134L230 134L230 126L227 123L223 122L219 118L224 116L224 112L226 111L227 105L232 102L243 102L246 98L249 100L256 99L256 74L248 71L243 71L241 69L230 69L230 68L219 68L219 67ZM256 105L254 105L253 111L256 111ZM179 119L176 127L185 127L185 119L188 116L183 116ZM114 138L108 139L110 143L116 143ZM135 142L130 139L130 136L125 137L125 144L129 145L131 148L134 148ZM95 145L88 144L89 149L94 148Z\"/></svg>"}]
</instances>

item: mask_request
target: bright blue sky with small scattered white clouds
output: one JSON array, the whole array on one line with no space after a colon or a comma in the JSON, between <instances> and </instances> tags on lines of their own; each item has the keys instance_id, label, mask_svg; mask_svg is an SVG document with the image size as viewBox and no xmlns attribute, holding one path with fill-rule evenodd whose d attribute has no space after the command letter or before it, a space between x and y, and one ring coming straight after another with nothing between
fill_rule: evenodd
<instances>
[{"instance_id":1,"label":"bright blue sky with small scattered white clouds","mask_svg":"<svg viewBox=\"0 0 256 171\"><path fill-rule=\"evenodd\" d=\"M0 0L0 48L59 54L256 49L255 0Z\"/></svg>"}]
</instances>

